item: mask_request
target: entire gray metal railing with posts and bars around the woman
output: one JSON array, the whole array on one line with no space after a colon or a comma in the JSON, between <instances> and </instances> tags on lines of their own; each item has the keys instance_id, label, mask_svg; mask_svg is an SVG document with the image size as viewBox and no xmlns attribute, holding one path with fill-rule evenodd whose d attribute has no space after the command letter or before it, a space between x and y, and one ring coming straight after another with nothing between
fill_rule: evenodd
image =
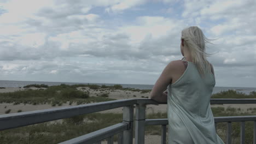
<instances>
[{"instance_id":1,"label":"entire gray metal railing with posts and bars around the woman","mask_svg":"<svg viewBox=\"0 0 256 144\"><path fill-rule=\"evenodd\" d=\"M10 113L0 115L0 130L123 107L123 122L75 137L74 139L61 142L61 144L101 143L102 140L113 143L114 135L118 135L118 143L130 144L133 143L133 106L136 105L135 143L144 143L145 127L147 125L162 125L161 143L166 143L166 125L168 124L168 120L167 118L146 119L146 105L148 104L166 103L157 103L152 99L124 99L46 110ZM256 99L211 99L211 104L256 104ZM256 116L214 117L215 123L227 122L228 124L226 143L231 143L231 122L241 122L240 143L245 143L245 121L254 121L253 143L256 144Z\"/></svg>"}]
</instances>

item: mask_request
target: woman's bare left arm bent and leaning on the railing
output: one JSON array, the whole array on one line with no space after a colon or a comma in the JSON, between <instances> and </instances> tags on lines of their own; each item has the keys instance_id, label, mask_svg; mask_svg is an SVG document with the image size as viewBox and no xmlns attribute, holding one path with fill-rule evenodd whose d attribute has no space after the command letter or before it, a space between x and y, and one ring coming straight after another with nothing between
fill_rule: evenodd
<instances>
[{"instance_id":1,"label":"woman's bare left arm bent and leaning on the railing","mask_svg":"<svg viewBox=\"0 0 256 144\"><path fill-rule=\"evenodd\" d=\"M173 62L170 62L165 69L162 71L162 74L155 82L154 87L152 88L150 98L158 101L160 103L167 102L167 93L164 93L167 86L171 83L171 71L173 71Z\"/></svg>"}]
</instances>

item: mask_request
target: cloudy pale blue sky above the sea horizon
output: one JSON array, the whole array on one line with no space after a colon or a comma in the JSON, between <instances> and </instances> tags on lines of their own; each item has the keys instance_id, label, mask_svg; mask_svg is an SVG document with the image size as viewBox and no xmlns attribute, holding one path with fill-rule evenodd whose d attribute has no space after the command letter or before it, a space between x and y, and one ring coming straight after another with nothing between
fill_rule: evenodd
<instances>
[{"instance_id":1,"label":"cloudy pale blue sky above the sea horizon","mask_svg":"<svg viewBox=\"0 0 256 144\"><path fill-rule=\"evenodd\" d=\"M0 80L154 85L200 27L216 87L256 87L256 1L0 0Z\"/></svg>"}]
</instances>

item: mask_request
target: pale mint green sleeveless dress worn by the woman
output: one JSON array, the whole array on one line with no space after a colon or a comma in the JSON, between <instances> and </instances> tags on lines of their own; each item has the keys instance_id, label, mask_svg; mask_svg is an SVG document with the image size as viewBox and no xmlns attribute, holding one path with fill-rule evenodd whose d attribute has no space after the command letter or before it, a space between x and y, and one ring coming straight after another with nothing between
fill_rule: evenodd
<instances>
[{"instance_id":1,"label":"pale mint green sleeveless dress worn by the woman","mask_svg":"<svg viewBox=\"0 0 256 144\"><path fill-rule=\"evenodd\" d=\"M215 77L210 71L202 79L196 65L186 62L182 76L167 87L168 144L222 144L210 106Z\"/></svg>"}]
</instances>

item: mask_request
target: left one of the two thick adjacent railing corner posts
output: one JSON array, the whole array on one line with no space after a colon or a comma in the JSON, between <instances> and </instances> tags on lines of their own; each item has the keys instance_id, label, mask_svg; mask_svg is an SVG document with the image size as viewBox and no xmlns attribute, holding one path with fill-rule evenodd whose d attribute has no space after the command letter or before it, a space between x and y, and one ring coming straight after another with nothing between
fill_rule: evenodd
<instances>
[{"instance_id":1,"label":"left one of the two thick adjacent railing corner posts","mask_svg":"<svg viewBox=\"0 0 256 144\"><path fill-rule=\"evenodd\" d=\"M129 124L129 129L124 131L123 143L133 142L133 105L123 107L123 122Z\"/></svg>"}]
</instances>

